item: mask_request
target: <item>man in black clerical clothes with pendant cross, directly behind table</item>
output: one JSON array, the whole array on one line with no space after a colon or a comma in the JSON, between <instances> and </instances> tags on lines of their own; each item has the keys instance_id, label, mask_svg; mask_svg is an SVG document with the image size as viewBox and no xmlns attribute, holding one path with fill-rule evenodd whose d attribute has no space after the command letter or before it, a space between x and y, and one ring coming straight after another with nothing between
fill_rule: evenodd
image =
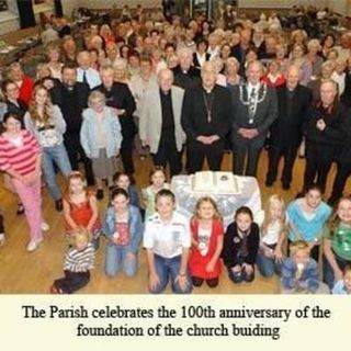
<instances>
[{"instance_id":1,"label":"man in black clerical clothes with pendant cross, directly behind table","mask_svg":"<svg viewBox=\"0 0 351 351\"><path fill-rule=\"evenodd\" d=\"M211 170L220 170L230 125L230 93L216 84L217 73L212 61L203 65L201 77L202 86L185 91L182 110L189 173L200 171L205 158Z\"/></svg>"}]
</instances>

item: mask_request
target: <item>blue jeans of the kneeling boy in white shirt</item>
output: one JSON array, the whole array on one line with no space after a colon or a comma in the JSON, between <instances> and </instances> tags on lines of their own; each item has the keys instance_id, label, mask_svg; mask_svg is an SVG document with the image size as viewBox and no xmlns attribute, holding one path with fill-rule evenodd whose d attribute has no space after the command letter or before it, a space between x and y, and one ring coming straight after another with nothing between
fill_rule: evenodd
<instances>
[{"instance_id":1,"label":"blue jeans of the kneeling boy in white shirt","mask_svg":"<svg viewBox=\"0 0 351 351\"><path fill-rule=\"evenodd\" d=\"M181 256L176 256L171 259L163 258L158 254L154 254L154 262L156 273L159 278L158 285L150 290L151 294L160 294L167 287L169 280L171 280L172 292L176 294L190 294L193 290L191 279L186 272L186 287L182 290L176 279L179 274Z\"/></svg>"}]
</instances>

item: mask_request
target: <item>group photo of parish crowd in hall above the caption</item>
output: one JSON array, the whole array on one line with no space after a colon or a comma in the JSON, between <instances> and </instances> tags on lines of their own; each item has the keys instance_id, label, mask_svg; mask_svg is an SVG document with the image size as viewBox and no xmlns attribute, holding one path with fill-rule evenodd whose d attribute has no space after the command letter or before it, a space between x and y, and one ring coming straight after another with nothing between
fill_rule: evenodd
<instances>
[{"instance_id":1,"label":"group photo of parish crowd in hall above the caption","mask_svg":"<svg viewBox=\"0 0 351 351\"><path fill-rule=\"evenodd\" d=\"M43 2L0 26L1 294L351 294L336 1Z\"/></svg>"}]
</instances>

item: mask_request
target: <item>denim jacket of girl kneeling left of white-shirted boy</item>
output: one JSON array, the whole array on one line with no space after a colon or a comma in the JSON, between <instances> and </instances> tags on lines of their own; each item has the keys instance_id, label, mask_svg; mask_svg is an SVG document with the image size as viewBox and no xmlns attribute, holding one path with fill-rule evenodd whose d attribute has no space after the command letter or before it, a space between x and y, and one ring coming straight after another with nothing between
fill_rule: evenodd
<instances>
[{"instance_id":1,"label":"denim jacket of girl kneeling left of white-shirted boy","mask_svg":"<svg viewBox=\"0 0 351 351\"><path fill-rule=\"evenodd\" d=\"M107 210L104 223L103 223L103 228L102 231L107 236L112 237L113 234L115 233L115 210L113 206L111 206ZM122 247L126 249L127 251L131 251L133 253L137 253L139 244L143 238L143 233L144 233L144 225L140 216L140 211L139 208L129 205L129 219L128 219L128 226L129 226L129 233L131 233L131 240L129 245L126 247ZM112 241L109 245L114 245ZM118 247L118 246L116 246Z\"/></svg>"}]
</instances>

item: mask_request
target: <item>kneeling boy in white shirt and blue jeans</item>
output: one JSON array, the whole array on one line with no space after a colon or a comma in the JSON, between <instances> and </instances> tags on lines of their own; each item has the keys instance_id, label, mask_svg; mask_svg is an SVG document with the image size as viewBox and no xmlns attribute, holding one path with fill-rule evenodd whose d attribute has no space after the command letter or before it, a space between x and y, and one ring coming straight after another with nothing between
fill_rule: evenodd
<instances>
[{"instance_id":1,"label":"kneeling boy in white shirt and blue jeans","mask_svg":"<svg viewBox=\"0 0 351 351\"><path fill-rule=\"evenodd\" d=\"M156 213L145 224L144 247L149 269L149 291L162 293L171 281L176 294L192 291L188 273L188 257L191 246L190 223L174 211L176 197L162 189L156 195Z\"/></svg>"}]
</instances>

